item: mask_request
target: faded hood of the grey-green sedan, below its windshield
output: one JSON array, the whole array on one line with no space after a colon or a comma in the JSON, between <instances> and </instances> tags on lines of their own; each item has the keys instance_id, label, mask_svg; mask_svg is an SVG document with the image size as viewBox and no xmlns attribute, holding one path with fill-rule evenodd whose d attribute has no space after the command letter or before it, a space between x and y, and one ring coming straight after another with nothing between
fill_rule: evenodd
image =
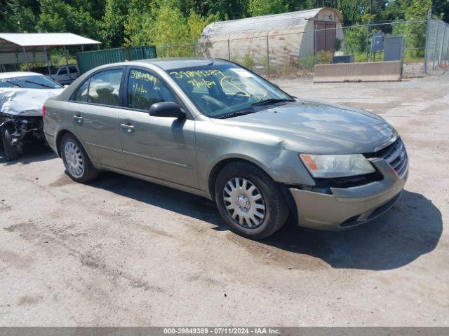
<instances>
[{"instance_id":1,"label":"faded hood of the grey-green sedan, below its windshield","mask_svg":"<svg viewBox=\"0 0 449 336\"><path fill-rule=\"evenodd\" d=\"M214 123L239 127L257 137L273 137L300 153L370 153L387 146L397 133L380 116L323 102L297 101ZM248 135L247 135L248 136Z\"/></svg>"}]
</instances>

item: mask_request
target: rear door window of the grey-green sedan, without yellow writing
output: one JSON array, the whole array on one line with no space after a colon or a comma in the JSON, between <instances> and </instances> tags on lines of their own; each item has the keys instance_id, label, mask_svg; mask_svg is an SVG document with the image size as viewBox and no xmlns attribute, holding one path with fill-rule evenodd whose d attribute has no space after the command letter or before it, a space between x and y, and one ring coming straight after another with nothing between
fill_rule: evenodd
<instances>
[{"instance_id":1,"label":"rear door window of the grey-green sedan, without yellow writing","mask_svg":"<svg viewBox=\"0 0 449 336\"><path fill-rule=\"evenodd\" d=\"M91 77L88 102L119 106L120 82L123 69L106 70Z\"/></svg>"}]
</instances>

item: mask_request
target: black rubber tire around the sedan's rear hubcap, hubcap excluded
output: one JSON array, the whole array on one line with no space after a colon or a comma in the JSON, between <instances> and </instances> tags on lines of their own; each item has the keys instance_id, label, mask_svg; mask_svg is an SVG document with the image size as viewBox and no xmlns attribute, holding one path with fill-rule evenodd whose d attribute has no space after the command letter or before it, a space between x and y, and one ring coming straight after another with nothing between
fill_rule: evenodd
<instances>
[{"instance_id":1,"label":"black rubber tire around the sedan's rear hubcap, hubcap excluded","mask_svg":"<svg viewBox=\"0 0 449 336\"><path fill-rule=\"evenodd\" d=\"M72 144L75 144L76 148L79 149L79 158L81 158L82 163L83 163L82 172L81 172L81 174L78 174L78 175L76 175L76 174L74 174L74 172L72 172L72 169L69 167L69 164L67 163L67 158L65 155L65 146L69 142L71 142ZM67 175L70 176L70 178L72 180L79 182L79 183L86 183L88 181L92 181L93 179L96 179L98 177L98 175L100 174L98 169L93 167L91 159L89 159L83 146L78 141L78 139L76 139L76 137L74 137L73 134L67 133L64 135L64 137L62 137L62 140L60 143L60 153L61 153L62 161L64 162L64 165L65 165L65 172L67 173Z\"/></svg>"}]
</instances>

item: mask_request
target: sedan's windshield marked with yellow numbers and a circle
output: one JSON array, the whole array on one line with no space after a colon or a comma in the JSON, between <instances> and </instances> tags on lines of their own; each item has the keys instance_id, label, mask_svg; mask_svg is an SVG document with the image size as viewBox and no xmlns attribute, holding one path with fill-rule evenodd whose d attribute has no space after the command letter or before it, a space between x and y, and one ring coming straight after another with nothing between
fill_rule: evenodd
<instances>
[{"instance_id":1,"label":"sedan's windshield marked with yellow numbers and a circle","mask_svg":"<svg viewBox=\"0 0 449 336\"><path fill-rule=\"evenodd\" d=\"M236 64L189 66L168 74L210 118L231 118L294 101L272 83Z\"/></svg>"}]
</instances>

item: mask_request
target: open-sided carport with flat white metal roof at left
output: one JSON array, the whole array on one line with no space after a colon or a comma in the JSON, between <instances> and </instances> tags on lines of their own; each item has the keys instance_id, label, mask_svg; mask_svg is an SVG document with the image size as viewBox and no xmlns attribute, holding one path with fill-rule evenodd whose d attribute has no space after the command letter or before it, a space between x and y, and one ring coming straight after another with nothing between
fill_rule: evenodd
<instances>
[{"instance_id":1,"label":"open-sided carport with flat white metal roof at left","mask_svg":"<svg viewBox=\"0 0 449 336\"><path fill-rule=\"evenodd\" d=\"M46 62L50 72L48 48L62 47L66 51L67 45L100 44L91 38L72 33L0 33L0 66L26 63L29 69L30 62Z\"/></svg>"}]
</instances>

